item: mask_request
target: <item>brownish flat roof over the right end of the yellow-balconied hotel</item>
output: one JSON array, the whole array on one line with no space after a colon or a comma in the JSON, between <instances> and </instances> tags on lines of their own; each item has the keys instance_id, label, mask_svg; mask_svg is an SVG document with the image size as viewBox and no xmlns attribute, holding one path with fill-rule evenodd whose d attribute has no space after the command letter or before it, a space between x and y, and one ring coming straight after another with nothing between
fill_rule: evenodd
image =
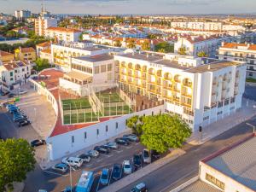
<instances>
[{"instance_id":1,"label":"brownish flat roof over the right end of the yellow-balconied hotel","mask_svg":"<svg viewBox=\"0 0 256 192\"><path fill-rule=\"evenodd\" d=\"M193 67L187 70L188 73L205 73L205 72L215 72L224 67L238 66L241 65L240 62L235 61L216 61L207 65L201 65L198 67Z\"/></svg>"}]
</instances>

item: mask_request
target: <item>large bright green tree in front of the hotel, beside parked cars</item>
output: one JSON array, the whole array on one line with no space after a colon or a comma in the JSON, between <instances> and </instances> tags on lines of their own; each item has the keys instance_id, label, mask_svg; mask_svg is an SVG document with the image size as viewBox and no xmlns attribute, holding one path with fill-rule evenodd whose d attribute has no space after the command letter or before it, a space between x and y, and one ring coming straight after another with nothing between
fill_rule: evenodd
<instances>
[{"instance_id":1,"label":"large bright green tree in front of the hotel, beside parked cars","mask_svg":"<svg viewBox=\"0 0 256 192\"><path fill-rule=\"evenodd\" d=\"M181 147L192 132L183 119L166 113L143 117L142 131L141 142L159 153Z\"/></svg>"}]
</instances>

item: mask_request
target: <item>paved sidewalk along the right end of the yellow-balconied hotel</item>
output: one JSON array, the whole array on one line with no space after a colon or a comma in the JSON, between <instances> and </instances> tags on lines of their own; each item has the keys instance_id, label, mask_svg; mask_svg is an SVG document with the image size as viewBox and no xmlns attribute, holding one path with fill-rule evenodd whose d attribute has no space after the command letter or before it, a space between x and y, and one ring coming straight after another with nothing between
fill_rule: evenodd
<instances>
[{"instance_id":1,"label":"paved sidewalk along the right end of the yellow-balconied hotel","mask_svg":"<svg viewBox=\"0 0 256 192\"><path fill-rule=\"evenodd\" d=\"M217 137L224 131L230 130L232 127L241 124L248 119L251 119L256 115L256 102L252 100L243 99L242 108L238 109L236 113L231 114L224 119L220 119L211 125L203 127L202 134L199 131L196 131L188 139L188 143L192 145L200 145L206 143L208 140L213 137Z\"/></svg>"}]
</instances>

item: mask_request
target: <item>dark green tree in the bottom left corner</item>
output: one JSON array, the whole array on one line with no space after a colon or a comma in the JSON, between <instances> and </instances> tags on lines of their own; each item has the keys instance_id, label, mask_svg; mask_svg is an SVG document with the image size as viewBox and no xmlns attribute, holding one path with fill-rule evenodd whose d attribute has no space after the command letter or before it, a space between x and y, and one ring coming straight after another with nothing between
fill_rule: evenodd
<instances>
[{"instance_id":1,"label":"dark green tree in the bottom left corner","mask_svg":"<svg viewBox=\"0 0 256 192\"><path fill-rule=\"evenodd\" d=\"M34 149L25 139L0 140L0 191L12 190L14 182L25 180L35 164Z\"/></svg>"}]
</instances>

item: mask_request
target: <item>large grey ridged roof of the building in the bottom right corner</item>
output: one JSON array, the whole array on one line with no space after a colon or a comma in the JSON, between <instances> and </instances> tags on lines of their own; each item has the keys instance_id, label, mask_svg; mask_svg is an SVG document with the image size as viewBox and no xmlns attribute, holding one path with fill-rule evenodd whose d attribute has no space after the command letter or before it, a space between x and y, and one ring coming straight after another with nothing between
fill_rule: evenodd
<instances>
[{"instance_id":1,"label":"large grey ridged roof of the building in the bottom right corner","mask_svg":"<svg viewBox=\"0 0 256 192\"><path fill-rule=\"evenodd\" d=\"M247 188L256 190L256 137L248 138L204 162Z\"/></svg>"}]
</instances>

